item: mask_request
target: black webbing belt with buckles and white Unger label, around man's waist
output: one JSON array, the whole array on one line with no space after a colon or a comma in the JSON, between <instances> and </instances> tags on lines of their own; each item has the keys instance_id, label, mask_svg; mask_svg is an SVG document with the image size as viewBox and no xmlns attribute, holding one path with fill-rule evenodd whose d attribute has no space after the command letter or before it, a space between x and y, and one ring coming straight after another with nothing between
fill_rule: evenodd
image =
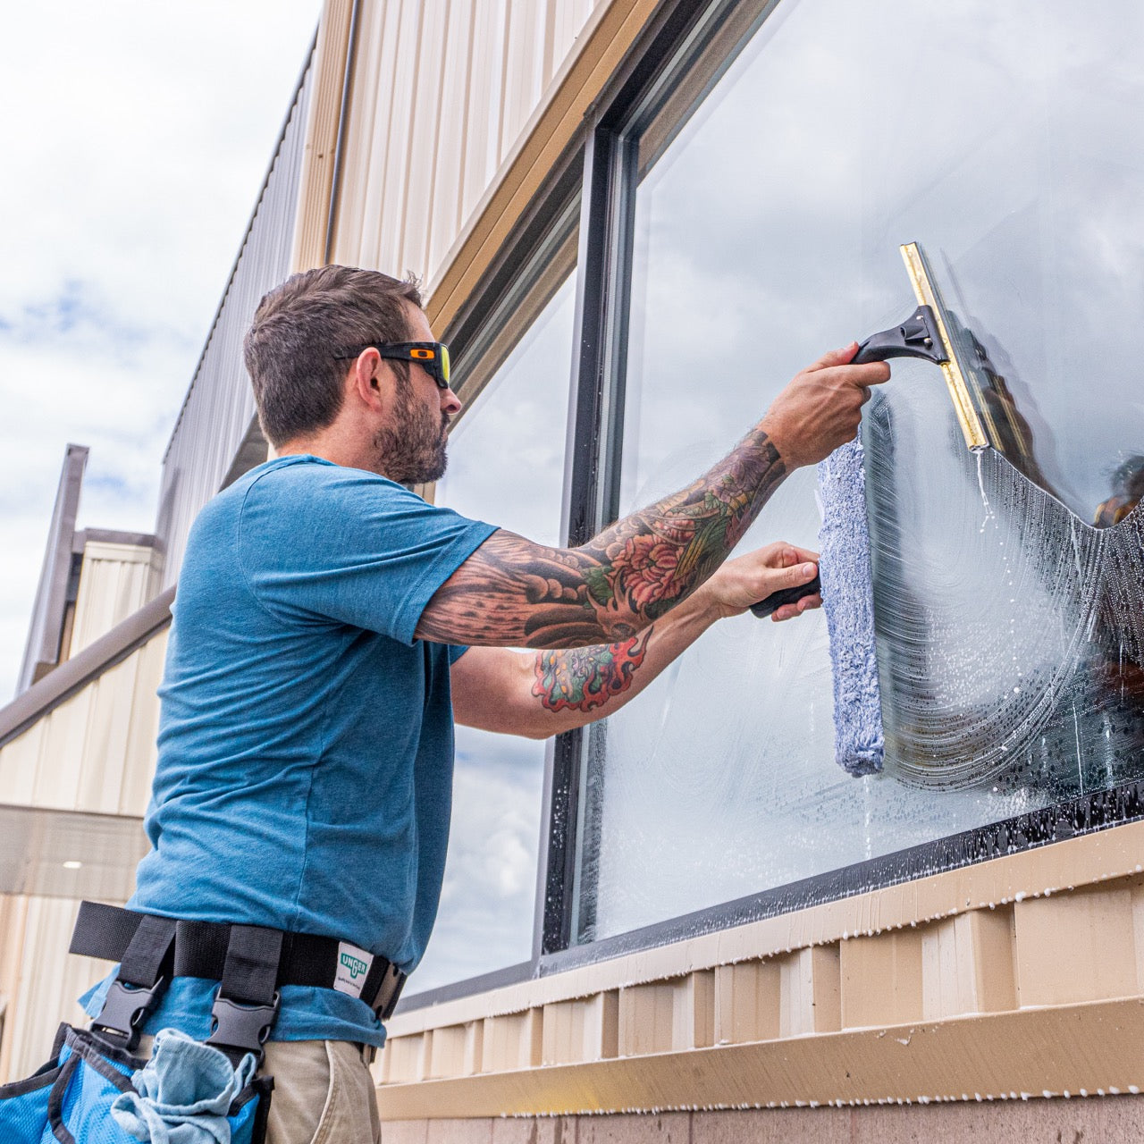
<instances>
[{"instance_id":1,"label":"black webbing belt with buckles and white Unger label, around man's waist","mask_svg":"<svg viewBox=\"0 0 1144 1144\"><path fill-rule=\"evenodd\" d=\"M283 985L341 987L386 1020L406 978L392 962L337 938L159 917L95 901L80 904L70 952L120 962L119 977L94 1027L130 1042L129 1050L170 977L220 982L212 1043L249 1051L257 1051L256 1044L269 1034ZM244 1016L247 1011L251 1019ZM263 1024L254 1027L252 1022L257 1020ZM243 1028L235 1032L237 1025Z\"/></svg>"}]
</instances>

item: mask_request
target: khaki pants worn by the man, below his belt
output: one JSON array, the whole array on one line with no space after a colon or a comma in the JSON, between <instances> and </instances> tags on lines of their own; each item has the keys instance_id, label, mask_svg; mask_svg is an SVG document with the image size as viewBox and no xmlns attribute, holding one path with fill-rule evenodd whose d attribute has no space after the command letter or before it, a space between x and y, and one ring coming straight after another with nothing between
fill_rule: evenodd
<instances>
[{"instance_id":1,"label":"khaki pants worn by the man, below his belt","mask_svg":"<svg viewBox=\"0 0 1144 1144\"><path fill-rule=\"evenodd\" d=\"M268 1041L262 1073L275 1079L267 1144L380 1144L373 1077L349 1041ZM136 1054L151 1055L151 1038Z\"/></svg>"}]
</instances>

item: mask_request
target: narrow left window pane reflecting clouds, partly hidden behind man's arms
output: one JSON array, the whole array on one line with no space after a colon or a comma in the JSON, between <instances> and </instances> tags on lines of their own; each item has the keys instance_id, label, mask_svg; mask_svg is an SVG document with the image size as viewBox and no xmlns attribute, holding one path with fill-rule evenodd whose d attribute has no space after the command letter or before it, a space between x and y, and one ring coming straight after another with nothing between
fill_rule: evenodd
<instances>
[{"instance_id":1,"label":"narrow left window pane reflecting clouds, partly hidden behind man's arms","mask_svg":"<svg viewBox=\"0 0 1144 1144\"><path fill-rule=\"evenodd\" d=\"M561 542L573 303L569 278L466 410L435 498L545 545ZM445 885L418 990L532 955L543 769L543 742L456 729Z\"/></svg>"}]
</instances>

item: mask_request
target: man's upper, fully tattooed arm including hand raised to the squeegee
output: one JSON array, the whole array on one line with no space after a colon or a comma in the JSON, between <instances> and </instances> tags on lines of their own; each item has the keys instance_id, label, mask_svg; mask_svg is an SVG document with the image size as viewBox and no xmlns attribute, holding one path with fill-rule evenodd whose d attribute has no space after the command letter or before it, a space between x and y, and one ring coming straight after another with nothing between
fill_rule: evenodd
<instances>
[{"instance_id":1,"label":"man's upper, fully tattooed arm including hand raised to the squeegee","mask_svg":"<svg viewBox=\"0 0 1144 1144\"><path fill-rule=\"evenodd\" d=\"M588 543L549 548L493 533L437 590L416 635L582 648L644 631L723 563L789 471L853 437L867 387L889 376L882 363L848 365L855 350L835 350L803 370L704 476Z\"/></svg>"}]
</instances>

